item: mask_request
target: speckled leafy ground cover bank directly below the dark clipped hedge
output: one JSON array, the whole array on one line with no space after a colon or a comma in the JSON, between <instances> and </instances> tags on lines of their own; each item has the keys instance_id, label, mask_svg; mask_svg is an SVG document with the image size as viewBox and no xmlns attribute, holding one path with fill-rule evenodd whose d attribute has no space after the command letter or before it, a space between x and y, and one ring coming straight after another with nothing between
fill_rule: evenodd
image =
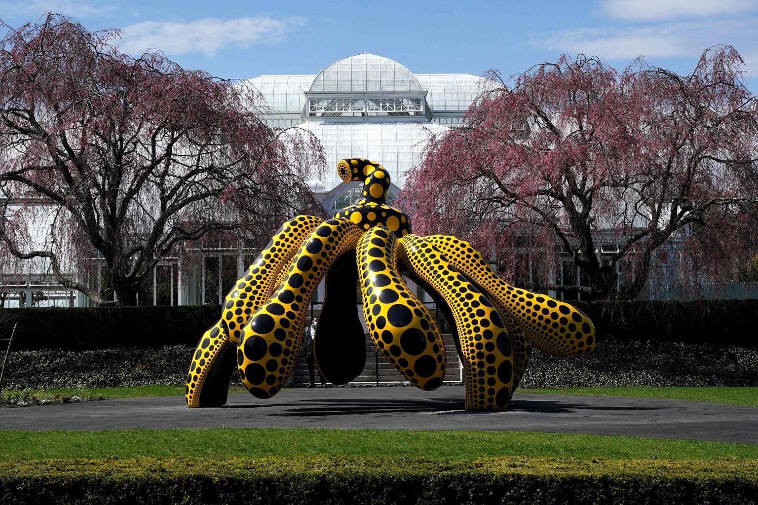
<instances>
[{"instance_id":1,"label":"speckled leafy ground cover bank directly below the dark clipped hedge","mask_svg":"<svg viewBox=\"0 0 758 505\"><path fill-rule=\"evenodd\" d=\"M194 350L194 345L171 345L16 351L5 370L5 388L183 385ZM233 373L232 379L238 382L239 376ZM593 353L578 357L534 351L521 386L758 386L758 347L608 337Z\"/></svg>"}]
</instances>

